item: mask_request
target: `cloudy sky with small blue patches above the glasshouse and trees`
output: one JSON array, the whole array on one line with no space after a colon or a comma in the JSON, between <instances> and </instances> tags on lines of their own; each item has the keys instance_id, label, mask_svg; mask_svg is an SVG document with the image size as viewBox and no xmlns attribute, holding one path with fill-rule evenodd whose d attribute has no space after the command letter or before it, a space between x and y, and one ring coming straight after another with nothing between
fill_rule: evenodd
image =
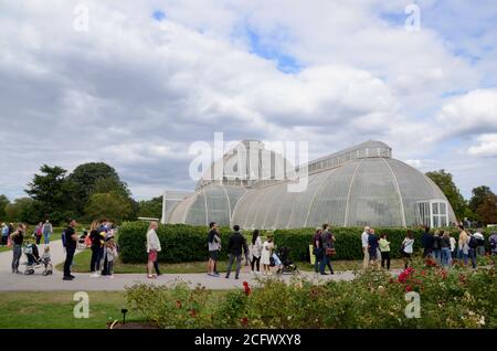
<instances>
[{"instance_id":1,"label":"cloudy sky with small blue patches above the glasshouse and trees","mask_svg":"<svg viewBox=\"0 0 497 351\"><path fill-rule=\"evenodd\" d=\"M0 193L91 161L137 199L192 190L214 132L381 140L497 192L496 23L494 0L0 0Z\"/></svg>"}]
</instances>

